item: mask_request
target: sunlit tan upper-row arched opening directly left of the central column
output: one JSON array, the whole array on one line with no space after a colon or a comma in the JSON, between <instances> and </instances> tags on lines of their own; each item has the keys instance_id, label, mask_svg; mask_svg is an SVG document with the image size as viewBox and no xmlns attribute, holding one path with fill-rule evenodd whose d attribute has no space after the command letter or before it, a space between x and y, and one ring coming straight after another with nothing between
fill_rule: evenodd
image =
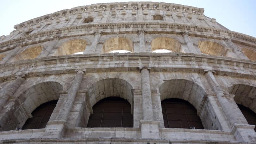
<instances>
[{"instance_id":1,"label":"sunlit tan upper-row arched opening directly left of the central column","mask_svg":"<svg viewBox=\"0 0 256 144\"><path fill-rule=\"evenodd\" d=\"M125 37L110 38L104 42L102 53L108 53L115 50L133 52L133 42L131 39Z\"/></svg>"}]
</instances>

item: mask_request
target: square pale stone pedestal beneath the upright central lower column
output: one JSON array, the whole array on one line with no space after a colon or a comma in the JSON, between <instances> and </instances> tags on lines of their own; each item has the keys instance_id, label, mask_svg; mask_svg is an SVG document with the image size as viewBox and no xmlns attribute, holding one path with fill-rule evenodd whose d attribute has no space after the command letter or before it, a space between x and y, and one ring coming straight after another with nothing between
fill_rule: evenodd
<instances>
[{"instance_id":1,"label":"square pale stone pedestal beneath the upright central lower column","mask_svg":"<svg viewBox=\"0 0 256 144\"><path fill-rule=\"evenodd\" d=\"M159 121L140 121L141 138L159 139Z\"/></svg>"}]
</instances>

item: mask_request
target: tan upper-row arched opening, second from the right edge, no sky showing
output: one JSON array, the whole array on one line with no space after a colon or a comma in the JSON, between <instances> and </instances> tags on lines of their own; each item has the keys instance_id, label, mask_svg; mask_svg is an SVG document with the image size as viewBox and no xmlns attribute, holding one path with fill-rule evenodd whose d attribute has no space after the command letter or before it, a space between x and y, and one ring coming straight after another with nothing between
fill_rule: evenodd
<instances>
[{"instance_id":1,"label":"tan upper-row arched opening, second from the right edge, no sky showing","mask_svg":"<svg viewBox=\"0 0 256 144\"><path fill-rule=\"evenodd\" d=\"M199 41L198 47L202 53L208 55L226 56L227 53L224 46L212 41Z\"/></svg>"}]
</instances>

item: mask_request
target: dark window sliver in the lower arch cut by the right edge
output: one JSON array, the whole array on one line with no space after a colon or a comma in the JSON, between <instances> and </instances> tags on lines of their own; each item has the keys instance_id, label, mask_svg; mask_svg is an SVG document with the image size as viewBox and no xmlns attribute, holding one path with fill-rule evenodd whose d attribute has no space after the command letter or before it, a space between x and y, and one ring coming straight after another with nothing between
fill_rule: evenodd
<instances>
[{"instance_id":1,"label":"dark window sliver in the lower arch cut by the right edge","mask_svg":"<svg viewBox=\"0 0 256 144\"><path fill-rule=\"evenodd\" d=\"M242 114L244 115L245 119L247 120L248 124L256 125L256 113L243 105L237 105L241 110ZM256 127L254 128L254 130L256 131Z\"/></svg>"}]
</instances>

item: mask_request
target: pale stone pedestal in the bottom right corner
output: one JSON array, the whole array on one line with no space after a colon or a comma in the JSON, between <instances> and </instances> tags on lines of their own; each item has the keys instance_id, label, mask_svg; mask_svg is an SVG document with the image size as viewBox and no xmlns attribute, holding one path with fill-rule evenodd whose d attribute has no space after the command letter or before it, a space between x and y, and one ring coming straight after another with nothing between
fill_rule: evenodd
<instances>
[{"instance_id":1,"label":"pale stone pedestal in the bottom right corner","mask_svg":"<svg viewBox=\"0 0 256 144\"><path fill-rule=\"evenodd\" d=\"M232 134L237 141L256 142L255 125L235 123Z\"/></svg>"}]
</instances>

